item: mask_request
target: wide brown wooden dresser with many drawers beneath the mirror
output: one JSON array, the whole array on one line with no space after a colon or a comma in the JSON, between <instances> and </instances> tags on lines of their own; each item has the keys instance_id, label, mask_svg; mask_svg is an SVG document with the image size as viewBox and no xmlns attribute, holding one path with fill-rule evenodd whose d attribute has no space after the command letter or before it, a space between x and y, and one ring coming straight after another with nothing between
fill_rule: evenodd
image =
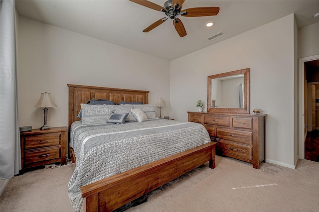
<instances>
[{"instance_id":1,"label":"wide brown wooden dresser with many drawers beneath the mirror","mask_svg":"<svg viewBox=\"0 0 319 212\"><path fill-rule=\"evenodd\" d=\"M211 140L217 142L217 154L252 163L259 169L265 161L265 116L188 112L188 121L204 125Z\"/></svg>"}]
</instances>

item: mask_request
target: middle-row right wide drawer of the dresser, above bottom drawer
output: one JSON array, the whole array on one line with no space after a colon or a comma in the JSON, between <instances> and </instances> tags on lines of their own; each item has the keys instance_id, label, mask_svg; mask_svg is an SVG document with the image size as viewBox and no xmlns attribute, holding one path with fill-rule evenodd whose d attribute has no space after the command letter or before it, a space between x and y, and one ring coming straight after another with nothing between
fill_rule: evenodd
<instances>
[{"instance_id":1,"label":"middle-row right wide drawer of the dresser, above bottom drawer","mask_svg":"<svg viewBox=\"0 0 319 212\"><path fill-rule=\"evenodd\" d=\"M216 136L217 138L222 138L225 140L253 145L253 132L249 131L216 128Z\"/></svg>"}]
</instances>

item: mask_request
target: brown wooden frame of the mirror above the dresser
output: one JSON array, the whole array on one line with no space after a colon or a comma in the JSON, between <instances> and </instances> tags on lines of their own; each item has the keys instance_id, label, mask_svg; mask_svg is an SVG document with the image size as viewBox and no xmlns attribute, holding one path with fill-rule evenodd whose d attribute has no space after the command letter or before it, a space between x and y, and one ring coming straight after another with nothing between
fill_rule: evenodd
<instances>
[{"instance_id":1,"label":"brown wooden frame of the mirror above the dresser","mask_svg":"<svg viewBox=\"0 0 319 212\"><path fill-rule=\"evenodd\" d=\"M249 113L250 106L250 81L249 81L250 69L240 69L236 71L215 74L208 76L207 79L207 111L208 112L224 112L224 113ZM234 75L244 74L244 108L228 108L228 107L212 107L211 108L211 80L221 77L229 77Z\"/></svg>"}]
</instances>

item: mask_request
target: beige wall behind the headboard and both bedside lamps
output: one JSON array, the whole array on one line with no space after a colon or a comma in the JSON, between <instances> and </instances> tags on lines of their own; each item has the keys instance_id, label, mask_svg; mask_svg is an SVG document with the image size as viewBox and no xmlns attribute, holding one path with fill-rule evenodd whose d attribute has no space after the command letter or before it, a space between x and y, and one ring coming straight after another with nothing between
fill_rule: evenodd
<instances>
[{"instance_id":1,"label":"beige wall behind the headboard and both bedside lamps","mask_svg":"<svg viewBox=\"0 0 319 212\"><path fill-rule=\"evenodd\" d=\"M169 61L24 16L18 33L19 126L43 125L43 109L34 105L45 91L57 105L48 125L67 126L66 84L147 90L149 103L161 97L162 116L169 115Z\"/></svg>"}]
</instances>

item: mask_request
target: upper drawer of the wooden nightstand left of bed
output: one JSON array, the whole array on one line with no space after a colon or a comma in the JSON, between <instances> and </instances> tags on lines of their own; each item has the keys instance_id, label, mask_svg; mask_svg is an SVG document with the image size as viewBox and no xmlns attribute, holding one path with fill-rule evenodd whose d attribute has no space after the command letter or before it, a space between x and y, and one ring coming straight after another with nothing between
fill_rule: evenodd
<instances>
[{"instance_id":1,"label":"upper drawer of the wooden nightstand left of bed","mask_svg":"<svg viewBox=\"0 0 319 212\"><path fill-rule=\"evenodd\" d=\"M25 136L25 149L33 149L60 144L60 132Z\"/></svg>"}]
</instances>

